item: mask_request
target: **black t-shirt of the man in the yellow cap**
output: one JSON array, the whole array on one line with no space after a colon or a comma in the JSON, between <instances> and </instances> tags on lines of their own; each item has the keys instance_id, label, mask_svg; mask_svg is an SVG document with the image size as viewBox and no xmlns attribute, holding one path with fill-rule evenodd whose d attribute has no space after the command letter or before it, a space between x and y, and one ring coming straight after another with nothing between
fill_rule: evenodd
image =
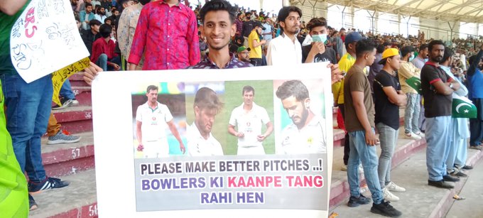
<instances>
[{"instance_id":1,"label":"black t-shirt of the man in the yellow cap","mask_svg":"<svg viewBox=\"0 0 483 218\"><path fill-rule=\"evenodd\" d=\"M398 75L390 75L385 70L379 71L374 78L374 99L376 100L376 118L375 123L383 123L391 126L392 129L399 129L399 107L389 102L389 97L382 87L394 87L401 90Z\"/></svg>"}]
</instances>

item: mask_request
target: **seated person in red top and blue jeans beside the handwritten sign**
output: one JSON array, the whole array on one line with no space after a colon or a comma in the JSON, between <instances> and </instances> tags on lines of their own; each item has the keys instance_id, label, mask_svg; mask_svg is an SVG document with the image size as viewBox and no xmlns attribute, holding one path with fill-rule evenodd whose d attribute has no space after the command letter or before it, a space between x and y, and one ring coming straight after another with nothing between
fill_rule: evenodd
<instances>
[{"instance_id":1,"label":"seated person in red top and blue jeans beside the handwritten sign","mask_svg":"<svg viewBox=\"0 0 483 218\"><path fill-rule=\"evenodd\" d=\"M91 61L102 68L102 70L120 70L119 56L114 53L116 43L111 40L112 26L102 24L99 28L99 34L102 38L98 38L92 44Z\"/></svg>"}]
</instances>

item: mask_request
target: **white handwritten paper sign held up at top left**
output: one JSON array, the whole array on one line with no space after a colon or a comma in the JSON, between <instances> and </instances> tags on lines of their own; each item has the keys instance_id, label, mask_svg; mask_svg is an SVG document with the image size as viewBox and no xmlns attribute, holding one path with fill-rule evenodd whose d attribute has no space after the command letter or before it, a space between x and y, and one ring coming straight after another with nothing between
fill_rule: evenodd
<instances>
[{"instance_id":1,"label":"white handwritten paper sign held up at top left","mask_svg":"<svg viewBox=\"0 0 483 218\"><path fill-rule=\"evenodd\" d=\"M13 25L10 49L26 82L89 56L68 0L32 0Z\"/></svg>"}]
</instances>

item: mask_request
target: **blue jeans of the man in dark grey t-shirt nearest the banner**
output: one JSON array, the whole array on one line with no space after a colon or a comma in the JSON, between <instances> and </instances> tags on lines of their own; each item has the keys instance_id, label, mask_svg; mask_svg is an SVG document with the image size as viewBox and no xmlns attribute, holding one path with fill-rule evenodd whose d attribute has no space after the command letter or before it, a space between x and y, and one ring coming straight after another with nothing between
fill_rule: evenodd
<instances>
[{"instance_id":1,"label":"blue jeans of the man in dark grey t-shirt nearest the banner","mask_svg":"<svg viewBox=\"0 0 483 218\"><path fill-rule=\"evenodd\" d=\"M374 131L374 129L373 129ZM362 161L364 167L364 177L367 181L367 187L372 194L374 204L378 205L382 202L381 185L379 185L379 176L377 175L377 153L376 146L369 146L366 143L366 135L364 131L349 132L349 162L347 163L347 180L349 181L350 195L359 197L359 172L357 170L359 161Z\"/></svg>"}]
</instances>

